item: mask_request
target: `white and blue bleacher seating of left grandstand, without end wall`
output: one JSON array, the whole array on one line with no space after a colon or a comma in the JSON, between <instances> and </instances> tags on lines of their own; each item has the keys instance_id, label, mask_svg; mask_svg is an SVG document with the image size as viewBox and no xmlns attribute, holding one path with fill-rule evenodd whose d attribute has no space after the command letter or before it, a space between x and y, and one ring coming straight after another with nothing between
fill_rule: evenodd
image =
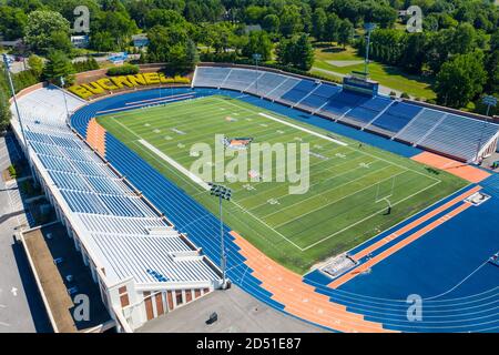
<instances>
[{"instance_id":1,"label":"white and blue bleacher seating of left grandstand, without end wall","mask_svg":"<svg viewBox=\"0 0 499 355\"><path fill-rule=\"evenodd\" d=\"M86 103L68 93L65 99L70 111ZM40 164L37 169L44 171L45 183L63 199L82 229L79 237L99 255L109 280L133 276L136 284L218 280L205 258L175 257L192 248L70 130L63 100L63 92L54 87L18 100L26 139ZM19 126L19 121L13 124ZM151 229L162 233L153 235Z\"/></svg>"}]
</instances>

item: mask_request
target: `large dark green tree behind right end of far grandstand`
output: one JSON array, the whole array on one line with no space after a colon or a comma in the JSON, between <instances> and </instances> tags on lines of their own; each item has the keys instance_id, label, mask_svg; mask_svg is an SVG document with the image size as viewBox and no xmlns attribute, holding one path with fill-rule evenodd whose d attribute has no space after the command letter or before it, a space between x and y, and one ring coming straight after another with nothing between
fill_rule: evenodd
<instances>
[{"instance_id":1,"label":"large dark green tree behind right end of far grandstand","mask_svg":"<svg viewBox=\"0 0 499 355\"><path fill-rule=\"evenodd\" d=\"M481 51L458 54L445 62L437 74L437 102L456 109L464 108L482 92L486 81Z\"/></svg>"}]
</instances>

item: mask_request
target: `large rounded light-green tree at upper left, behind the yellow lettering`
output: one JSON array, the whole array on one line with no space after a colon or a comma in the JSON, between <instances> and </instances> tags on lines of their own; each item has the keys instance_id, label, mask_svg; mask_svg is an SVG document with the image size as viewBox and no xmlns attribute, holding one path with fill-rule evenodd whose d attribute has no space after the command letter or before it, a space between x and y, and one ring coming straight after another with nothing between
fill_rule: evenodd
<instances>
[{"instance_id":1,"label":"large rounded light-green tree at upper left, behind the yellow lettering","mask_svg":"<svg viewBox=\"0 0 499 355\"><path fill-rule=\"evenodd\" d=\"M59 12L37 10L28 16L24 39L35 52L48 53L51 49L65 50L68 43L71 43L69 34L70 23Z\"/></svg>"}]
</instances>

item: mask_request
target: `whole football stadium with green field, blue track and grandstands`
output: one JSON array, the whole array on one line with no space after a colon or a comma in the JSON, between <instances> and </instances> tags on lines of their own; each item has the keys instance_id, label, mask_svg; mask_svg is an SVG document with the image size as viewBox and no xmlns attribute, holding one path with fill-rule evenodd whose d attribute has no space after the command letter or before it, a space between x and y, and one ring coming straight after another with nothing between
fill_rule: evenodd
<instances>
[{"instance_id":1,"label":"whole football stadium with green field, blue track and grandstands","mask_svg":"<svg viewBox=\"0 0 499 355\"><path fill-rule=\"evenodd\" d=\"M475 163L499 125L355 77L210 63L191 84L162 87L150 67L96 77L23 90L13 129L116 329L233 284L326 331L497 331L499 178ZM307 143L307 189L266 179L274 162L230 179L235 152L259 142ZM232 192L223 250L196 143L232 152L201 164Z\"/></svg>"}]
</instances>

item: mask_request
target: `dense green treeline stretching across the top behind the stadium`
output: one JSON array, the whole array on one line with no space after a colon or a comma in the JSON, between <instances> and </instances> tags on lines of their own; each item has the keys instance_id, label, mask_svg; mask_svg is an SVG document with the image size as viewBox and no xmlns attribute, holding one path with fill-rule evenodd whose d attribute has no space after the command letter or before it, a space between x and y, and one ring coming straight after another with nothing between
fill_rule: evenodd
<instances>
[{"instance_id":1,"label":"dense green treeline stretching across the top behind the stadium","mask_svg":"<svg viewBox=\"0 0 499 355\"><path fill-rule=\"evenodd\" d=\"M432 77L438 103L462 108L499 89L499 8L492 0L4 0L0 33L24 38L30 52L57 60L68 79L75 57L69 40L77 6L90 9L90 49L129 50L141 62L165 61L173 70L200 60L262 61L307 71L314 41L365 51L364 23L374 22L371 54L407 73ZM2 3L2 2L0 2ZM398 11L417 4L422 32L409 33ZM248 31L251 26L252 31ZM255 30L256 29L256 30ZM258 30L261 29L261 30ZM147 50L131 37L146 32ZM61 54L62 53L62 54ZM50 65L49 65L50 67ZM472 73L472 74L471 74ZM41 73L43 74L43 73ZM53 78L54 67L44 70ZM69 80L70 81L70 80ZM449 93L449 90L455 90ZM482 111L481 111L482 112Z\"/></svg>"}]
</instances>

